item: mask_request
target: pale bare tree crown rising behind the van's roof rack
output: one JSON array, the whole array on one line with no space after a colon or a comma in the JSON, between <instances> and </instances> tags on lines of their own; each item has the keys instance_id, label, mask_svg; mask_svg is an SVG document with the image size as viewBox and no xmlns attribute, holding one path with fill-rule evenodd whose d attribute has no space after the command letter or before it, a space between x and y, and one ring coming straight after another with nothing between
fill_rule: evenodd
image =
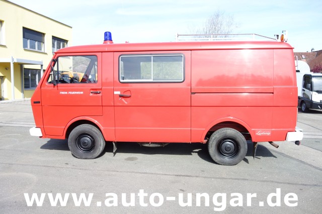
<instances>
[{"instance_id":1,"label":"pale bare tree crown rising behind the van's roof rack","mask_svg":"<svg viewBox=\"0 0 322 214\"><path fill-rule=\"evenodd\" d=\"M192 30L192 34L231 34L235 28L237 28L237 23L233 16L226 15L223 11L217 11L206 19L202 27Z\"/></svg>"}]
</instances>

